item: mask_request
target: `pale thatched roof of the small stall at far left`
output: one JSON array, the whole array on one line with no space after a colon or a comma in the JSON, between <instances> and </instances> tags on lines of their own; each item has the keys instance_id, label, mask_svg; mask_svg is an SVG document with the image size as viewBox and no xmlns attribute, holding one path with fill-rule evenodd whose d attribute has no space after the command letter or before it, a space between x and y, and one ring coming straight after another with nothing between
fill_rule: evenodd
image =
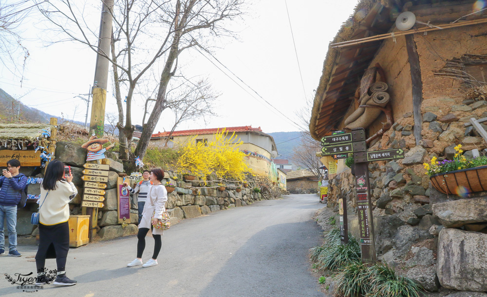
<instances>
[{"instance_id":1,"label":"pale thatched roof of the small stall at far left","mask_svg":"<svg viewBox=\"0 0 487 297\"><path fill-rule=\"evenodd\" d=\"M45 130L45 131L44 131ZM47 132L46 132L47 131ZM15 140L37 140L46 139L46 135L51 135L51 125L49 124L0 124L0 139Z\"/></svg>"}]
</instances>

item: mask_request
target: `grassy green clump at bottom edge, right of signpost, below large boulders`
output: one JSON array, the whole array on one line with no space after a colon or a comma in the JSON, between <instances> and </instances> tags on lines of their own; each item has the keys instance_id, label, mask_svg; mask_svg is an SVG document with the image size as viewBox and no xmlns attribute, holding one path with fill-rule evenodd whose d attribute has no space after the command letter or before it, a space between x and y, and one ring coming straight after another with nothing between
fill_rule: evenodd
<instances>
[{"instance_id":1,"label":"grassy green clump at bottom edge, right of signpost, below large boulders","mask_svg":"<svg viewBox=\"0 0 487 297\"><path fill-rule=\"evenodd\" d=\"M395 274L387 265L374 265L368 269L370 290L366 297L419 297L422 287L413 280Z\"/></svg>"}]
</instances>

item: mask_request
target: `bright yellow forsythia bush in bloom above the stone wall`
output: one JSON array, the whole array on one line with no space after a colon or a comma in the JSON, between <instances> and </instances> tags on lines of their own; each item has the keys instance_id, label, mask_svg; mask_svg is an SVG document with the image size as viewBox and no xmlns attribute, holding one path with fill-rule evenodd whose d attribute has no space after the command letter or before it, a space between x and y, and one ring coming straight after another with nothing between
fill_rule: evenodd
<instances>
[{"instance_id":1,"label":"bright yellow forsythia bush in bloom above the stone wall","mask_svg":"<svg viewBox=\"0 0 487 297\"><path fill-rule=\"evenodd\" d=\"M239 149L243 141L237 140L235 133L228 137L228 132L224 129L217 132L214 140L207 145L204 142L196 143L196 137L180 144L177 172L201 176L215 172L218 177L244 179L249 168L244 152Z\"/></svg>"}]
</instances>

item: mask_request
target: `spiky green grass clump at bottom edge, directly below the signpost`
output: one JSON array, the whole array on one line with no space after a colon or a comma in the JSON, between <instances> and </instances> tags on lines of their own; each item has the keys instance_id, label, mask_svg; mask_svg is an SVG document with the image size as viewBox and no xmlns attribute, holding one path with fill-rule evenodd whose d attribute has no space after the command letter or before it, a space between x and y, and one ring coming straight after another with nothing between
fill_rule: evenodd
<instances>
[{"instance_id":1,"label":"spiky green grass clump at bottom edge, directly below the signpost","mask_svg":"<svg viewBox=\"0 0 487 297\"><path fill-rule=\"evenodd\" d=\"M367 265L361 262L340 269L335 280L336 293L344 297L360 297L369 291Z\"/></svg>"}]
</instances>

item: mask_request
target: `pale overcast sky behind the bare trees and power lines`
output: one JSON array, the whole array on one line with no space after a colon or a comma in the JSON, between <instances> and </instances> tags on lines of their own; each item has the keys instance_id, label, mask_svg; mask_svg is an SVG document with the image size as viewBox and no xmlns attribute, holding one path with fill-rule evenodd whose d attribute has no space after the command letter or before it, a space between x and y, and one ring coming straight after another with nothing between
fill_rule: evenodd
<instances>
[{"instance_id":1,"label":"pale overcast sky behind the bare trees and power lines","mask_svg":"<svg viewBox=\"0 0 487 297\"><path fill-rule=\"evenodd\" d=\"M189 49L180 59L180 69L188 77L207 77L221 96L215 104L217 116L207 118L206 122L185 122L176 130L252 125L260 126L266 133L298 131L292 122L299 122L296 111L305 105L305 96L313 99L328 43L353 12L357 0L287 0L304 90L284 0L253 0L251 3L251 11L237 28L240 31L238 40L226 40L223 48L215 49L213 54L291 120L265 104L247 87L245 89L252 95L239 87L228 76L238 79L228 71L225 70L227 76L199 52ZM93 13L98 18L99 14L99 11ZM61 116L62 112L65 118L84 122L86 104L75 96L88 93L89 86L93 85L95 53L74 42L46 47L39 38L45 36L39 29L42 27L39 16L30 16L21 27L24 29L22 36L27 38L23 45L30 53L22 87L19 77L3 65L0 65L0 87L14 98L21 97L25 105L56 116ZM144 102L145 98L135 96L134 124L142 123ZM107 112L115 111L115 98L109 86ZM172 112L165 110L154 133L170 130L173 121Z\"/></svg>"}]
</instances>

